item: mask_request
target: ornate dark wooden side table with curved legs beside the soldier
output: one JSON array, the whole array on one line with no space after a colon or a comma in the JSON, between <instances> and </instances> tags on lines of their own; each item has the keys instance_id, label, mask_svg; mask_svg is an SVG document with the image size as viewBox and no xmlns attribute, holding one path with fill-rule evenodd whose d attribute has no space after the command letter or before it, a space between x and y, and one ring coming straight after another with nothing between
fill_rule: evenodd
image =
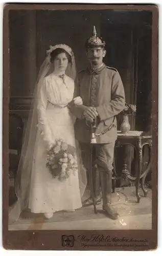
<instances>
[{"instance_id":1,"label":"ornate dark wooden side table with curved legs beside the soldier","mask_svg":"<svg viewBox=\"0 0 162 256\"><path fill-rule=\"evenodd\" d=\"M136 189L136 197L137 197L137 203L140 203L140 195L138 193L139 185L141 183L142 190L144 192L144 196L147 196L147 189L145 186L145 178L151 168L151 147L152 147L152 136L150 135L143 135L143 132L138 131L129 131L128 133L122 133L118 132L118 138L115 143L114 147L114 169L113 169L113 192L115 188L115 181L118 179L128 179L130 181L135 182L135 189ZM129 170L127 169L127 163L124 163L123 170L121 176L117 175L116 169L115 169L115 163L117 163L117 154L116 149L117 147L123 146L123 145L131 145L135 148L137 153L137 168L135 172L135 177L132 177L129 173ZM147 168L145 172L142 172L143 167L143 146L148 145L149 146L149 162L147 165Z\"/></svg>"}]
</instances>

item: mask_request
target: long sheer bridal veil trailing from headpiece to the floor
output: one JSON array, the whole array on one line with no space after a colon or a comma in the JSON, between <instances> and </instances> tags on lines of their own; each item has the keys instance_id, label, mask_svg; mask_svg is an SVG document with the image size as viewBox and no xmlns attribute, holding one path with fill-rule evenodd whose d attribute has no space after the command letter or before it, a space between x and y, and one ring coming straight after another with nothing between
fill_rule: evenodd
<instances>
[{"instance_id":1,"label":"long sheer bridal veil trailing from headpiece to the floor","mask_svg":"<svg viewBox=\"0 0 162 256\"><path fill-rule=\"evenodd\" d=\"M17 221L21 212L28 208L29 203L29 193L30 193L30 183L31 183L31 170L33 164L34 156L34 145L36 141L37 134L37 95L39 94L40 84L42 79L53 72L53 65L50 62L50 54L57 48L64 49L68 54L71 55L72 63L68 63L67 69L65 71L66 75L70 76L74 80L76 79L76 65L75 57L72 49L66 45L60 44L56 46L51 46L50 50L47 51L47 57L42 63L39 71L37 83L34 89L34 97L31 104L31 109L29 112L29 117L27 121L25 137L22 144L21 156L19 160L19 165L17 169L17 175L15 180L15 193L17 196L17 201L11 211L9 212L9 223ZM81 151L79 148L79 143L76 141L76 150L78 157L78 175L79 175L79 186L81 197L84 194L84 190L87 184L86 180L86 170L82 164Z\"/></svg>"}]
</instances>

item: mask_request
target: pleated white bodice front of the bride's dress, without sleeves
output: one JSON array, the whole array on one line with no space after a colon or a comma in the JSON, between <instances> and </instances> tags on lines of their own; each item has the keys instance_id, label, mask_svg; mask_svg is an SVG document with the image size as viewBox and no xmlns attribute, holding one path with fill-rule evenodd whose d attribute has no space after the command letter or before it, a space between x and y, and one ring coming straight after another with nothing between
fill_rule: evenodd
<instances>
[{"instance_id":1,"label":"pleated white bodice front of the bride's dress, without sleeves","mask_svg":"<svg viewBox=\"0 0 162 256\"><path fill-rule=\"evenodd\" d=\"M51 74L44 78L47 100L59 106L67 105L73 99L74 80L65 75L62 78Z\"/></svg>"}]
</instances>

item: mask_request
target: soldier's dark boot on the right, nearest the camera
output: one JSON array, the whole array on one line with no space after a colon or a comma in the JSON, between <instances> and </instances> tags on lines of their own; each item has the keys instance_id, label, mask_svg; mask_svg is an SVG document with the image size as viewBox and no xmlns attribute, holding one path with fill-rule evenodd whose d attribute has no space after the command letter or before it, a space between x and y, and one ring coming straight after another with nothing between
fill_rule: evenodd
<instances>
[{"instance_id":1,"label":"soldier's dark boot on the right, nearest the camera","mask_svg":"<svg viewBox=\"0 0 162 256\"><path fill-rule=\"evenodd\" d=\"M111 193L112 193L112 174L104 171L100 171L101 178L101 190L103 200L103 210L105 214L112 220L116 220L119 217L117 211L115 211L111 205Z\"/></svg>"}]
</instances>

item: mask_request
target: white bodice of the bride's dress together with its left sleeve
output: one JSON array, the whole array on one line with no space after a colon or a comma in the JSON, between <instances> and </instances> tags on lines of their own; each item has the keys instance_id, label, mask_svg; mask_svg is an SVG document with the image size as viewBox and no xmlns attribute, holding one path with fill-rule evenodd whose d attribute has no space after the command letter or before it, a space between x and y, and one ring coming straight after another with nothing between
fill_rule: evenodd
<instances>
[{"instance_id":1,"label":"white bodice of the bride's dress together with its left sleeve","mask_svg":"<svg viewBox=\"0 0 162 256\"><path fill-rule=\"evenodd\" d=\"M59 109L67 113L67 108L63 107L73 100L73 95L74 80L72 78L65 75L63 81L54 74L45 77L40 84L37 98L38 123L48 127L49 111L50 115L58 112Z\"/></svg>"}]
</instances>

